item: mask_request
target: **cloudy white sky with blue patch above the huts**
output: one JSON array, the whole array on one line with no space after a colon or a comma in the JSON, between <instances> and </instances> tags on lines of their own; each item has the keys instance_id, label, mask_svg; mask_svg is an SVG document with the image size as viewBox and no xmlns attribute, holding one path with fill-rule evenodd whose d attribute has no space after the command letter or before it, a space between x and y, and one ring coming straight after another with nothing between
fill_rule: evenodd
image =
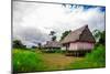
<instances>
[{"instance_id":1,"label":"cloudy white sky with blue patch above the huts","mask_svg":"<svg viewBox=\"0 0 110 74\"><path fill-rule=\"evenodd\" d=\"M105 7L13 1L13 39L26 45L51 40L51 31L59 40L64 31L85 24L90 31L105 30Z\"/></svg>"}]
</instances>

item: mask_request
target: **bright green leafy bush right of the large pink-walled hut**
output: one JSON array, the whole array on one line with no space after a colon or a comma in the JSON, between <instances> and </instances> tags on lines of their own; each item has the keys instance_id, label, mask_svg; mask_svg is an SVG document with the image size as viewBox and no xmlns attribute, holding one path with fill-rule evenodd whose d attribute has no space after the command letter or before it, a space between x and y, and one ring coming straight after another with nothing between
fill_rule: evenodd
<instances>
[{"instance_id":1,"label":"bright green leafy bush right of the large pink-walled hut","mask_svg":"<svg viewBox=\"0 0 110 74\"><path fill-rule=\"evenodd\" d=\"M95 51L92 51L91 53L88 53L86 57L90 62L105 64L106 63L106 47L102 45L99 45L95 47Z\"/></svg>"}]
</instances>

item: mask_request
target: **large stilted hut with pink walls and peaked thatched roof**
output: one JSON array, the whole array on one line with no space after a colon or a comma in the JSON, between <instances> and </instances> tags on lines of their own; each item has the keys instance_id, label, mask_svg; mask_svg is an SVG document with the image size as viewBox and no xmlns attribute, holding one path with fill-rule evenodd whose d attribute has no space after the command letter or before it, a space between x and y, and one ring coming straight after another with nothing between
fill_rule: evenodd
<instances>
[{"instance_id":1,"label":"large stilted hut with pink walls and peaked thatched roof","mask_svg":"<svg viewBox=\"0 0 110 74\"><path fill-rule=\"evenodd\" d=\"M94 49L95 42L88 25L85 25L72 31L61 43L67 55L84 55Z\"/></svg>"}]
</instances>

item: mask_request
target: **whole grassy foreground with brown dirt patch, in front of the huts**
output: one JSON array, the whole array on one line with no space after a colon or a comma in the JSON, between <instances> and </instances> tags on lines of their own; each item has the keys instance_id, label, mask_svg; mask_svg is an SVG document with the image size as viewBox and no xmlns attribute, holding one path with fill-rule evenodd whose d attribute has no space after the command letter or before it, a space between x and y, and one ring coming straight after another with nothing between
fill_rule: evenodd
<instances>
[{"instance_id":1,"label":"whole grassy foreground with brown dirt patch, in front of the huts","mask_svg":"<svg viewBox=\"0 0 110 74\"><path fill-rule=\"evenodd\" d=\"M75 70L106 66L105 46L84 57L66 56L63 53L42 53L41 51L12 50L13 72L40 72L57 70Z\"/></svg>"}]
</instances>

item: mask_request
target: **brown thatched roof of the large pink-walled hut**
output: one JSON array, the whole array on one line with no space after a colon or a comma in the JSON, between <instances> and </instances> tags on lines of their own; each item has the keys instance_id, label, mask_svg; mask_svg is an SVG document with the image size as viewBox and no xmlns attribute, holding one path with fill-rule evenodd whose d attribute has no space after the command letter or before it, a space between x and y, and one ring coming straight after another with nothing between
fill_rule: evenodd
<instances>
[{"instance_id":1,"label":"brown thatched roof of the large pink-walled hut","mask_svg":"<svg viewBox=\"0 0 110 74\"><path fill-rule=\"evenodd\" d=\"M88 29L88 25L81 27L75 31L72 31L61 43L70 43L70 42L92 42L95 43L95 38Z\"/></svg>"}]
</instances>

